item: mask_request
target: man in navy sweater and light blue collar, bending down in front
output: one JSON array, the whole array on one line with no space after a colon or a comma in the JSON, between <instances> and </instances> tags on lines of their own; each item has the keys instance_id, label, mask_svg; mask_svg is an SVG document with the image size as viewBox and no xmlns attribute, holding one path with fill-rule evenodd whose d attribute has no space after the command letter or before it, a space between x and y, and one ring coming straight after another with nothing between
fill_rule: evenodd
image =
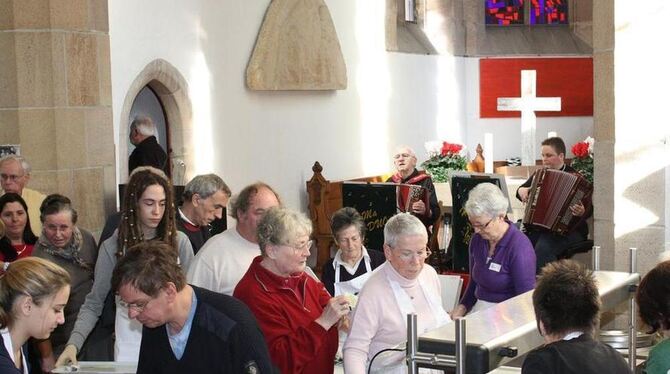
<instances>
[{"instance_id":1,"label":"man in navy sweater and light blue collar, bending down in front","mask_svg":"<svg viewBox=\"0 0 670 374\"><path fill-rule=\"evenodd\" d=\"M143 242L112 274L128 316L144 326L137 373L275 372L249 308L188 285L173 252L163 242Z\"/></svg>"}]
</instances>

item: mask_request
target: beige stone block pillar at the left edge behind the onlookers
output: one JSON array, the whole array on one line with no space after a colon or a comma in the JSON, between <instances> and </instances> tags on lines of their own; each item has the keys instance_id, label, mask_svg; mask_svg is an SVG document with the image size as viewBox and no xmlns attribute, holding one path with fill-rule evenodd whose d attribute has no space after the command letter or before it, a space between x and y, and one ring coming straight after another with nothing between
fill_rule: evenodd
<instances>
[{"instance_id":1,"label":"beige stone block pillar at the left edge behind the onlookers","mask_svg":"<svg viewBox=\"0 0 670 374\"><path fill-rule=\"evenodd\" d=\"M0 144L100 231L116 185L107 0L0 0L0 51Z\"/></svg>"}]
</instances>

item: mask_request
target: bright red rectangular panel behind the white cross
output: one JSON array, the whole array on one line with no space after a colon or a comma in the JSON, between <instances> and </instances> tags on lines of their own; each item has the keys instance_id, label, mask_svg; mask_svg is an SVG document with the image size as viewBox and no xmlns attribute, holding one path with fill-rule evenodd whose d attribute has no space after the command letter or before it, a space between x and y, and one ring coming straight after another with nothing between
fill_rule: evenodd
<instances>
[{"instance_id":1,"label":"bright red rectangular panel behind the white cross","mask_svg":"<svg viewBox=\"0 0 670 374\"><path fill-rule=\"evenodd\" d=\"M484 58L479 60L479 116L520 117L499 112L499 97L521 96L521 70L537 71L537 96L560 97L560 112L536 112L538 117L593 116L593 59Z\"/></svg>"}]
</instances>

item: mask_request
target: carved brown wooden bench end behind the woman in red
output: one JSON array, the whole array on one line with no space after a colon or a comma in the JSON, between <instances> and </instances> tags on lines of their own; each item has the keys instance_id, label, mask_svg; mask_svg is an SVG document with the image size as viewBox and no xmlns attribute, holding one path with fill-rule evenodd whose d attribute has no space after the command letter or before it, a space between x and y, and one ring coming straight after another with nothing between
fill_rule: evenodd
<instances>
[{"instance_id":1,"label":"carved brown wooden bench end behind the woman in red","mask_svg":"<svg viewBox=\"0 0 670 374\"><path fill-rule=\"evenodd\" d=\"M309 199L309 216L314 225L314 241L316 242L316 269L320 276L323 265L330 259L330 248L334 244L333 235L330 232L330 217L342 208L342 182L329 181L323 177L323 167L319 162L312 166L314 175L307 181L307 196ZM383 182L383 176L375 175L348 179L354 182Z\"/></svg>"}]
</instances>

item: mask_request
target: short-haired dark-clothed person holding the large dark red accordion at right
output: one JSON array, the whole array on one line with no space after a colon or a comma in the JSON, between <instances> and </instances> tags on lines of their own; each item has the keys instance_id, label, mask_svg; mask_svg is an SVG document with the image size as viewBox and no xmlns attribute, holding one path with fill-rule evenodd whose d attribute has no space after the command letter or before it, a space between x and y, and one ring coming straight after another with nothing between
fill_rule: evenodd
<instances>
[{"instance_id":1,"label":"short-haired dark-clothed person holding the large dark red accordion at right","mask_svg":"<svg viewBox=\"0 0 670 374\"><path fill-rule=\"evenodd\" d=\"M542 165L550 169L565 171L568 173L576 173L577 171L571 166L565 164L565 143L559 137L545 139L542 142ZM533 183L532 175L526 182L524 182L516 191L517 199L526 203L530 193L530 187ZM590 203L590 202L589 202ZM589 209L584 207L582 202L574 204L570 207L570 211L574 216L588 218L593 214L593 208L587 204ZM552 232L549 229L538 227L535 225L524 225L524 232L533 243L535 254L537 256L537 272L540 272L542 267L556 260L561 256L571 245L584 241L588 238L589 228L586 220L581 220L575 227L565 234Z\"/></svg>"}]
</instances>

